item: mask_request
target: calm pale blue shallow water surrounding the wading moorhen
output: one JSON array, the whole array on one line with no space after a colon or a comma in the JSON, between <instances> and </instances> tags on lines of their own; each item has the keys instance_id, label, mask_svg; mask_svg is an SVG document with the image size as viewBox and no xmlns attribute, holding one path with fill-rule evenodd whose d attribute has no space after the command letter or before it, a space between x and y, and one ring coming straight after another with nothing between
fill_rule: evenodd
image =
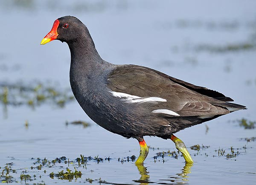
<instances>
[{"instance_id":1,"label":"calm pale blue shallow water surrounding the wading moorhen","mask_svg":"<svg viewBox=\"0 0 256 185\"><path fill-rule=\"evenodd\" d=\"M177 159L168 155L154 158L159 152L177 152L175 145L145 137L151 148L144 168L138 169L134 161L127 160L127 156L139 155L137 141L99 127L76 101L68 101L62 108L51 99L34 108L27 103L4 106L1 101L1 174L6 175L6 163L12 163L15 173L10 173L11 180L22 184L255 184L256 132L236 121L256 121L254 7L254 1L1 1L0 85L33 86L39 82L70 95L67 44L53 41L39 45L53 21L70 14L87 25L106 61L148 66L217 90L248 108L176 134L187 147L201 146L199 151L189 148L193 166L185 166L180 154ZM1 95L4 87L0 86ZM8 98L27 101L19 91L9 90ZM91 126L66 124L77 120ZM227 155L232 154L231 147L238 155ZM218 154L221 149L225 150L222 156ZM81 154L92 157L84 167L76 162ZM61 156L67 159L51 163ZM96 156L102 161L93 160ZM108 157L110 160L105 160ZM50 162L41 170L31 168L42 164L44 158ZM65 163L68 159L70 164ZM82 175L71 182L49 176L66 168L75 171L74 167ZM25 182L21 174L29 174L31 179Z\"/></svg>"}]
</instances>

